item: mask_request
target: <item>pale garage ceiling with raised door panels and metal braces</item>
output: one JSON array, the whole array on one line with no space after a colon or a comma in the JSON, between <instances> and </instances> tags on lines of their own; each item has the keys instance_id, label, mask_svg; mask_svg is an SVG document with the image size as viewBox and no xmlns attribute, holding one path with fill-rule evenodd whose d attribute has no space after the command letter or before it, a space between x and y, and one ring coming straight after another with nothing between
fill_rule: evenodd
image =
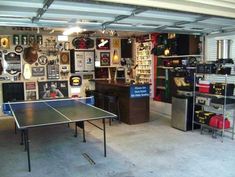
<instances>
[{"instance_id":1,"label":"pale garage ceiling with raised door panels and metal braces","mask_svg":"<svg viewBox=\"0 0 235 177\"><path fill-rule=\"evenodd\" d=\"M197 34L235 31L235 1L0 0L0 26Z\"/></svg>"}]
</instances>

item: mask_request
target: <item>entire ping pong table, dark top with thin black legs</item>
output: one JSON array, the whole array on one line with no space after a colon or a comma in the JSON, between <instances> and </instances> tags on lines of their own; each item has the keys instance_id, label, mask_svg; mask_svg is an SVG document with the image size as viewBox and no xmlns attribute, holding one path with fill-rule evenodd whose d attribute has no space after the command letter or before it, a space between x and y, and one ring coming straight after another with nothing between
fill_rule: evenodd
<instances>
[{"instance_id":1,"label":"entire ping pong table, dark top with thin black legs","mask_svg":"<svg viewBox=\"0 0 235 177\"><path fill-rule=\"evenodd\" d=\"M103 131L104 156L106 157L105 119L115 118L116 115L90 105L88 100L89 98L8 103L16 126L21 130L21 144L25 145L25 151L27 151L29 171L31 171L29 129L35 127L75 123L74 135L77 136L77 127L81 128L83 142L86 142L84 122L89 122ZM103 127L91 122L99 119L102 120Z\"/></svg>"}]
</instances>

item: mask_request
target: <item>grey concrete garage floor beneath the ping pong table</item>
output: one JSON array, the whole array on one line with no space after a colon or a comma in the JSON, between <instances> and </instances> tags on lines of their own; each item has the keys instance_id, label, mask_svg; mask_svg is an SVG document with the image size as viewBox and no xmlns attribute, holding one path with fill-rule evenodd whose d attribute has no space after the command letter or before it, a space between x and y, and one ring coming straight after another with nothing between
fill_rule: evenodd
<instances>
[{"instance_id":1,"label":"grey concrete garage floor beneath the ping pong table","mask_svg":"<svg viewBox=\"0 0 235 177\"><path fill-rule=\"evenodd\" d=\"M169 119L154 114L150 122L139 125L114 122L110 127L107 122L106 158L102 132L86 124L86 135L87 143L83 143L81 133L74 138L65 125L31 130L29 173L13 120L0 119L0 177L235 176L233 140L225 138L221 143L198 131L182 132L171 128Z\"/></svg>"}]
</instances>

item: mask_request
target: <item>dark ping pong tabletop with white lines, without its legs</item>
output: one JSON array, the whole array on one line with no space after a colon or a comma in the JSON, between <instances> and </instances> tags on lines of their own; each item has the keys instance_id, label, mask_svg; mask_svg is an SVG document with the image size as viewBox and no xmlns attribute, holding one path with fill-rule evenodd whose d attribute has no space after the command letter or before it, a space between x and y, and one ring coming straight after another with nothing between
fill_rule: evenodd
<instances>
[{"instance_id":1,"label":"dark ping pong tabletop with white lines, without its legs","mask_svg":"<svg viewBox=\"0 0 235 177\"><path fill-rule=\"evenodd\" d=\"M20 129L116 117L82 99L9 103Z\"/></svg>"}]
</instances>

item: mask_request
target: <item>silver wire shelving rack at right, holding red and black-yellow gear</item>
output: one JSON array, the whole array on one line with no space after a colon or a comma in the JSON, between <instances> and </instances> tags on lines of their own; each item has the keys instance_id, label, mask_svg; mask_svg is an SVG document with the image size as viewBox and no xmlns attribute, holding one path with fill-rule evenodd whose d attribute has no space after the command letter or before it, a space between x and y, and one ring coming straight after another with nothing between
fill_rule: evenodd
<instances>
[{"instance_id":1,"label":"silver wire shelving rack at right, holding red and black-yellow gear","mask_svg":"<svg viewBox=\"0 0 235 177\"><path fill-rule=\"evenodd\" d=\"M234 128L235 128L235 120L234 120L234 114L232 115L232 117L229 119L230 120L230 128L227 128L225 129L224 126L225 126L225 118L228 118L227 117L227 112L229 110L235 110L235 102L234 103L231 103L231 104L226 104L227 103L227 99L235 99L235 96L232 95L232 96L227 96L227 85L228 85L228 78L232 75L217 75L217 76L220 76L220 77L224 77L224 84L225 84L225 93L224 95L218 95L218 94L212 94L212 93L201 93L201 92L198 92L197 91L197 88L199 87L199 85L196 83L196 80L197 80L197 77L201 77L203 76L204 79L206 80L207 79L207 76L208 75L211 75L211 74L194 74L194 92L193 92L193 121L192 121L192 127L194 127L194 124L196 125L200 125L201 126L201 133L203 131L204 128L207 128L207 129L210 129L212 130L212 132L219 132L220 135L221 135L221 141L223 142L223 138L224 138L224 134L225 132L229 132L231 133L231 138L234 139ZM213 74L216 76L216 74ZM234 76L234 75L233 75ZM200 97L205 97L205 98L210 98L210 99L219 99L219 98L222 98L223 99L223 103L222 104L218 104L220 105L219 108L215 108L213 107L213 105L210 103L209 105L204 105L204 104L200 104L200 103L196 103L196 97L197 96L200 96ZM197 121L195 121L195 108L196 106L198 107L201 107L201 109L203 111L209 111L209 112L212 112L212 113L215 113L215 114L220 114L220 115L223 115L224 119L223 119L223 128L222 129L219 129L219 128L215 128L215 127L211 127L207 124L202 124L202 123L199 123ZM213 133L213 135L215 135L215 133Z\"/></svg>"}]
</instances>

